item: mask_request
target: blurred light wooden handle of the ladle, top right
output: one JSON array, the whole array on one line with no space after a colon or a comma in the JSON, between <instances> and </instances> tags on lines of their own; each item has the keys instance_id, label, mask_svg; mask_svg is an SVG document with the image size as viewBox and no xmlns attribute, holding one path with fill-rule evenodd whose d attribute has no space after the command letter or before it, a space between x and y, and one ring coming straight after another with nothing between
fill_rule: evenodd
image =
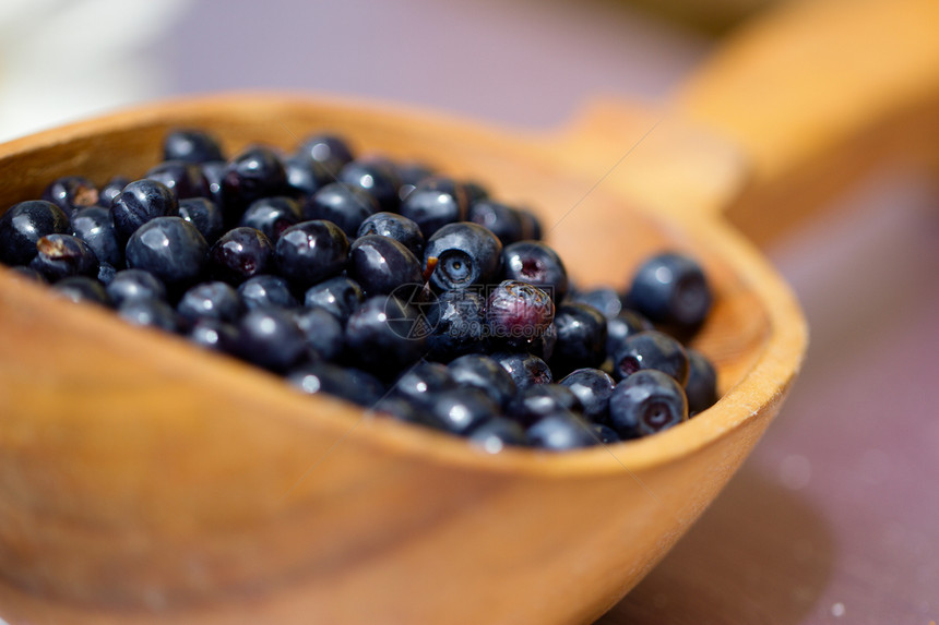
<instances>
[{"instance_id":1,"label":"blurred light wooden handle of the ladle, top right","mask_svg":"<svg viewBox=\"0 0 939 625\"><path fill-rule=\"evenodd\" d=\"M732 34L675 104L749 160L725 209L765 243L845 183L939 144L939 2L795 0Z\"/></svg>"}]
</instances>

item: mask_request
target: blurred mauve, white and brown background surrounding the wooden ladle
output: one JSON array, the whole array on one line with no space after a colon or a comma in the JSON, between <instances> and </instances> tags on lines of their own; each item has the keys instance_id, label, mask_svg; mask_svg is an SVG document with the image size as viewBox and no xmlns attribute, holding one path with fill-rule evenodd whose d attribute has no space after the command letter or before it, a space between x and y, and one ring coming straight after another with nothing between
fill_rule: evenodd
<instances>
[{"instance_id":1,"label":"blurred mauve, white and brown background surrounding the wooden ladle","mask_svg":"<svg viewBox=\"0 0 939 625\"><path fill-rule=\"evenodd\" d=\"M243 88L548 131L598 94L665 101L765 4L3 0L0 139ZM934 176L883 169L771 244L811 328L803 374L726 491L601 623L939 621L937 205Z\"/></svg>"}]
</instances>

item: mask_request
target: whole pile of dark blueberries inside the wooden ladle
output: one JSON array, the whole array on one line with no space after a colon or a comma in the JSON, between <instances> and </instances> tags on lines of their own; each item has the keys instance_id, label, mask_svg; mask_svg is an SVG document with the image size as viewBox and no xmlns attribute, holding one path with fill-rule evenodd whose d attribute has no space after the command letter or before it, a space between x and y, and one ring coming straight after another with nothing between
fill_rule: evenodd
<instances>
[{"instance_id":1,"label":"whole pile of dark blueberries inside the wooden ladle","mask_svg":"<svg viewBox=\"0 0 939 625\"><path fill-rule=\"evenodd\" d=\"M716 400L687 347L712 305L698 263L579 290L540 239L479 184L332 134L226 159L174 131L142 179L61 178L0 217L0 261L66 298L488 452L644 436Z\"/></svg>"}]
</instances>

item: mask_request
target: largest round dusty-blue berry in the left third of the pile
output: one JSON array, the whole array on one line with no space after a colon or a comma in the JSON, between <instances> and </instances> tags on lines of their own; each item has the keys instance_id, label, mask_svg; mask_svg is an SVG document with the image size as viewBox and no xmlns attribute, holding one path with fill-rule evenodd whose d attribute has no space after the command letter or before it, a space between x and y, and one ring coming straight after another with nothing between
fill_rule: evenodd
<instances>
[{"instance_id":1,"label":"largest round dusty-blue berry in the left third of the pile","mask_svg":"<svg viewBox=\"0 0 939 625\"><path fill-rule=\"evenodd\" d=\"M144 269L170 290L182 290L203 276L209 244L195 226L181 217L156 217L127 243L127 264Z\"/></svg>"}]
</instances>

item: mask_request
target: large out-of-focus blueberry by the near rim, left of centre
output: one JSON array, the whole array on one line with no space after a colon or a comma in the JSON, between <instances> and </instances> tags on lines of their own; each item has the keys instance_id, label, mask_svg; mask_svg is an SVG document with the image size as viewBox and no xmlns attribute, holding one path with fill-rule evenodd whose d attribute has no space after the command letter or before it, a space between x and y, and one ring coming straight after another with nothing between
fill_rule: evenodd
<instances>
[{"instance_id":1,"label":"large out-of-focus blueberry by the near rim, left of centre","mask_svg":"<svg viewBox=\"0 0 939 625\"><path fill-rule=\"evenodd\" d=\"M304 330L286 310L250 310L238 320L236 327L234 352L248 362L283 373L305 356Z\"/></svg>"}]
</instances>

